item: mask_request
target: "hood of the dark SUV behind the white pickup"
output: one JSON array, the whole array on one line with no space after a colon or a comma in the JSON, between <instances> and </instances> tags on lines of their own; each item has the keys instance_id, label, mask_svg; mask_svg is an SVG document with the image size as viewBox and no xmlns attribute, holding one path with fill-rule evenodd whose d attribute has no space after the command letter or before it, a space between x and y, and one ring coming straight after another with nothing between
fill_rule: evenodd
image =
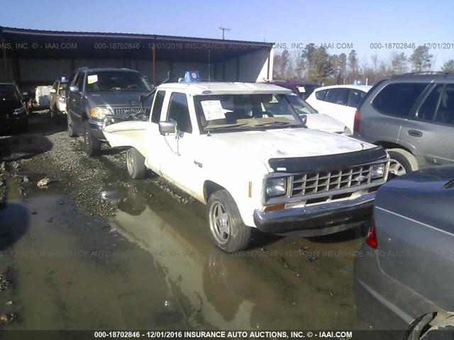
<instances>
[{"instance_id":1,"label":"hood of the dark SUV behind the white pickup","mask_svg":"<svg viewBox=\"0 0 454 340\"><path fill-rule=\"evenodd\" d=\"M140 106L139 96L148 94L143 91L103 91L87 94L93 106ZM150 106L151 98L147 98L145 106Z\"/></svg>"}]
</instances>

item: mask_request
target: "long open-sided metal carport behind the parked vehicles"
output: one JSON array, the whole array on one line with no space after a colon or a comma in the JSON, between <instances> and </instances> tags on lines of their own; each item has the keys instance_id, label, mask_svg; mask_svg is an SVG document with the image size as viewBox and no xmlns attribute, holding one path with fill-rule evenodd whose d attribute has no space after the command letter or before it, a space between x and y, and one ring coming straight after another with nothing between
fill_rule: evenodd
<instances>
[{"instance_id":1,"label":"long open-sided metal carport behind the parked vehicles","mask_svg":"<svg viewBox=\"0 0 454 340\"><path fill-rule=\"evenodd\" d=\"M138 69L155 84L170 70L218 81L272 80L272 43L0 27L0 80L51 84L77 67Z\"/></svg>"}]
</instances>

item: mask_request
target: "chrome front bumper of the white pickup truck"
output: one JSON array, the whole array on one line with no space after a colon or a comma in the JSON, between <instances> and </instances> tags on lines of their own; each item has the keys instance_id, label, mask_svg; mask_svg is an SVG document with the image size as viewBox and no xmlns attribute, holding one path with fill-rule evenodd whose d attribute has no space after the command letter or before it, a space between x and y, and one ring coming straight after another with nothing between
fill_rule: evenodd
<instances>
[{"instance_id":1,"label":"chrome front bumper of the white pickup truck","mask_svg":"<svg viewBox=\"0 0 454 340\"><path fill-rule=\"evenodd\" d=\"M262 232L313 237L341 232L370 220L375 193L306 208L254 211L254 223Z\"/></svg>"}]
</instances>

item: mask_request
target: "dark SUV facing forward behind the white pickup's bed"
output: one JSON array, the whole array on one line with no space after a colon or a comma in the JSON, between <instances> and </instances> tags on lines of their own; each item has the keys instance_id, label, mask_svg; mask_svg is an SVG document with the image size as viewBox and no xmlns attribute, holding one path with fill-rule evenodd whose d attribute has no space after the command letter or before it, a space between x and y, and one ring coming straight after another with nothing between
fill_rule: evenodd
<instances>
[{"instance_id":1,"label":"dark SUV facing forward behind the white pickup's bed","mask_svg":"<svg viewBox=\"0 0 454 340\"><path fill-rule=\"evenodd\" d=\"M133 69L78 69L67 95L68 134L83 135L87 154L99 154L101 142L106 142L102 132L105 118L139 113L139 97L150 91L145 77ZM143 107L150 112L150 98Z\"/></svg>"}]
</instances>

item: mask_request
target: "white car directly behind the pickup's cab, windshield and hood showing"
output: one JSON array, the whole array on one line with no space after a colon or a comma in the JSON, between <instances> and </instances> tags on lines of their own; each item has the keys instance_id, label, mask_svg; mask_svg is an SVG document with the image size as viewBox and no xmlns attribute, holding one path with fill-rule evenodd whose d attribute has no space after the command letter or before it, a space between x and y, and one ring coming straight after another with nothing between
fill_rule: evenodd
<instances>
[{"instance_id":1,"label":"white car directly behind the pickup's cab, windshield and hood showing","mask_svg":"<svg viewBox=\"0 0 454 340\"><path fill-rule=\"evenodd\" d=\"M306 117L306 126L309 129L333 132L346 136L352 135L352 131L344 123L329 115L318 113L315 108L303 101L297 94L287 94L285 97L301 117Z\"/></svg>"}]
</instances>

